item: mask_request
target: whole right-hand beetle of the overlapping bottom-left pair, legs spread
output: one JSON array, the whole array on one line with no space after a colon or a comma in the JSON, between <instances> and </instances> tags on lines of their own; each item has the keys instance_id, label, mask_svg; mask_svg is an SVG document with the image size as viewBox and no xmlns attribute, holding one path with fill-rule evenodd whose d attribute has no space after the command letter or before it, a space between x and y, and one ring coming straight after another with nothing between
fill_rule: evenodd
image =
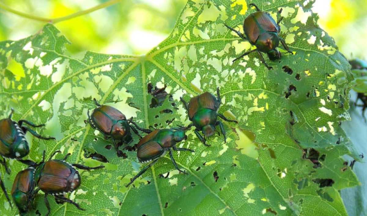
<instances>
[{"instance_id":1,"label":"whole right-hand beetle of the overlapping bottom-left pair, legs spread","mask_svg":"<svg viewBox=\"0 0 367 216\"><path fill-rule=\"evenodd\" d=\"M47 195L54 196L55 201L58 204L68 202L73 204L79 210L86 210L81 208L78 204L65 197L67 192L75 191L81 183L79 172L75 168L91 170L104 168L104 166L88 167L78 163L68 163L66 159L70 156L70 153L65 155L62 160L52 159L52 157L61 151L55 151L48 161L43 160L37 164L37 168L34 172L34 181L39 187L39 190L45 194L44 202L47 207L47 214L50 214L50 204L48 203Z\"/></svg>"}]
</instances>

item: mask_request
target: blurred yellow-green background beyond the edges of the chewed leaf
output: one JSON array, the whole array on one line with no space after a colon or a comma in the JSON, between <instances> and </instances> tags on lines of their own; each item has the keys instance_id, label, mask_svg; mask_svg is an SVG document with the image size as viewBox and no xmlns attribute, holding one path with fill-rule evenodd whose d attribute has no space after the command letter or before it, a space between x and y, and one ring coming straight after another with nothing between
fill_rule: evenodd
<instances>
[{"instance_id":1,"label":"blurred yellow-green background beyond the edges of the chewed leaf","mask_svg":"<svg viewBox=\"0 0 367 216\"><path fill-rule=\"evenodd\" d=\"M27 14L57 18L86 10L107 0L0 0L0 4ZM247 1L250 2L249 0ZM143 55L163 41L174 28L186 0L121 0L108 8L59 22L56 27L72 42L68 55L82 58L87 51ZM334 37L348 58L367 60L366 0L316 0L313 12L319 25ZM42 28L33 21L0 9L0 40L18 40ZM351 100L356 94L351 92ZM361 110L352 106L352 121L343 123L356 148L367 156L367 126ZM367 206L367 172L357 163L355 172L362 186L343 190L349 215L364 215Z\"/></svg>"}]
</instances>

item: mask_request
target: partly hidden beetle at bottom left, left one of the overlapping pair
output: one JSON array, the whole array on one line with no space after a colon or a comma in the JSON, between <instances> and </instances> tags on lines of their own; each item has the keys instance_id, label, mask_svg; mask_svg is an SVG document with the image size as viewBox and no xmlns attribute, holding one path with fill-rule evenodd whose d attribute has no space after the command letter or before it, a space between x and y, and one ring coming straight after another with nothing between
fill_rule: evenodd
<instances>
[{"instance_id":1,"label":"partly hidden beetle at bottom left, left one of the overlapping pair","mask_svg":"<svg viewBox=\"0 0 367 216\"><path fill-rule=\"evenodd\" d=\"M29 168L20 171L15 176L13 187L11 189L11 196L15 205L19 209L20 215L26 215L29 209L34 209L33 199L38 193L39 189L36 189L34 183L34 170L35 168L30 166Z\"/></svg>"}]
</instances>

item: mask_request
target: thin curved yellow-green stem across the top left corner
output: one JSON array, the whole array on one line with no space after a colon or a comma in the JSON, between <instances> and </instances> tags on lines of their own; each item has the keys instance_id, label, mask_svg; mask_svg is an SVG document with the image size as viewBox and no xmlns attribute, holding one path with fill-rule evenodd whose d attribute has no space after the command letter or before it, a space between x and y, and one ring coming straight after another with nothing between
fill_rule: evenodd
<instances>
[{"instance_id":1,"label":"thin curved yellow-green stem across the top left corner","mask_svg":"<svg viewBox=\"0 0 367 216\"><path fill-rule=\"evenodd\" d=\"M68 20L68 19L79 17L81 15L89 14L89 13L91 13L93 11L96 11L96 10L99 10L101 8L109 7L113 4L118 3L119 1L121 1L121 0L109 0L109 1L106 1L105 3L99 4L95 7L89 8L87 10L78 11L76 13L69 14L69 15L66 15L64 17L59 17L59 18L55 18L55 19L38 17L38 16L31 15L31 14L23 13L23 12L20 12L20 11L16 11L16 10L6 6L5 4L3 4L1 2L0 2L0 9L11 12L12 14L17 14L17 15L19 15L21 17L24 17L24 18L33 19L33 20L40 21L40 22L50 22L50 23L55 24L55 23L58 23L58 22L61 22L61 21L65 21L65 20Z\"/></svg>"}]
</instances>

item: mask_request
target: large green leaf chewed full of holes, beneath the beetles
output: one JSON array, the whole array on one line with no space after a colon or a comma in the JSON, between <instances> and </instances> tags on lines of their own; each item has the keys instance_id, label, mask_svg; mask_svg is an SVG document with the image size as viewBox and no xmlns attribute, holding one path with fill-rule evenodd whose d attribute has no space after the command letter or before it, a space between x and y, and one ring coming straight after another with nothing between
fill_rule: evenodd
<instances>
[{"instance_id":1,"label":"large green leaf chewed full of holes, beneath the beetles","mask_svg":"<svg viewBox=\"0 0 367 216\"><path fill-rule=\"evenodd\" d=\"M338 191L359 185L343 159L357 158L357 153L339 126L350 118L353 76L348 61L317 26L312 1L252 3L275 19L283 8L280 36L295 53L281 50L281 60L275 62L265 58L270 71L256 53L232 63L254 48L224 26L239 29L254 12L240 0L189 1L171 35L141 57L92 52L81 60L69 57L68 40L51 24L26 39L0 43L1 116L14 107L14 119L46 123L39 132L57 137L56 143L33 138L27 158L39 161L43 150L47 155L61 150L57 158L70 152L70 162L98 165L84 159L87 148L110 161L106 169L81 172L82 184L70 195L86 212L49 197L52 215L347 215ZM166 84L173 105L166 100L150 108L148 83ZM217 87L223 104L219 112L239 125L226 123L227 143L216 135L207 139L211 147L188 132L179 146L195 153L174 153L188 175L178 174L165 156L126 188L141 169L136 152L118 158L113 148L105 148L110 141L83 122L96 98L133 116L142 127L188 125L179 97L187 101ZM8 192L16 173L25 168L16 161L10 166L10 176L2 168ZM168 172L167 178L160 177ZM4 196L1 203L1 214L17 214ZM46 213L42 195L36 206Z\"/></svg>"}]
</instances>

